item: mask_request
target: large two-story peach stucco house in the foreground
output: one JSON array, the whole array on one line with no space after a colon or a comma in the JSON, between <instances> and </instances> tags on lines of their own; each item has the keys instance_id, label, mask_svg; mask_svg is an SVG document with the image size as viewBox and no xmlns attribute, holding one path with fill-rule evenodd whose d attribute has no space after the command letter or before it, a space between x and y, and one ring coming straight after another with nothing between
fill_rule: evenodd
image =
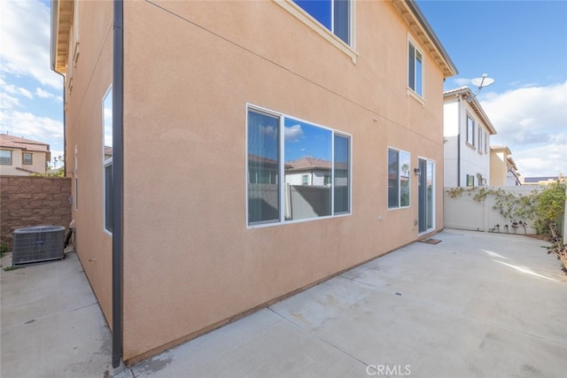
<instances>
[{"instance_id":1,"label":"large two-story peach stucco house in the foreground","mask_svg":"<svg viewBox=\"0 0 567 378\"><path fill-rule=\"evenodd\" d=\"M113 366L443 227L456 69L414 2L51 9L76 251ZM286 183L308 154L322 185Z\"/></svg>"}]
</instances>

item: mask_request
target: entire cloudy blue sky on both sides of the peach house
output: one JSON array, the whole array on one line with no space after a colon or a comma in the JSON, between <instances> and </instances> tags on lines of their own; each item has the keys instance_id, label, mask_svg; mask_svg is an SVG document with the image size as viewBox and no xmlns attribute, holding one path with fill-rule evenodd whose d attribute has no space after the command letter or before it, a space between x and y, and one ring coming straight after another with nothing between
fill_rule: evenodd
<instances>
[{"instance_id":1,"label":"entire cloudy blue sky on both sides of the peach house","mask_svg":"<svg viewBox=\"0 0 567 378\"><path fill-rule=\"evenodd\" d=\"M524 176L567 175L567 1L419 0L459 74L495 80L478 99ZM62 78L50 71L50 3L0 3L0 132L63 155Z\"/></svg>"}]
</instances>

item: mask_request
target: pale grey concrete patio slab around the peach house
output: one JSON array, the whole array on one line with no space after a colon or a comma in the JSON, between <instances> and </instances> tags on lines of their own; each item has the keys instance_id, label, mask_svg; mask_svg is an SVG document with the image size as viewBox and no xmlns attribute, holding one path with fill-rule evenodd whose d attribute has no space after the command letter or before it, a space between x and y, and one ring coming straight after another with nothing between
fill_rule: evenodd
<instances>
[{"instance_id":1,"label":"pale grey concrete patio slab around the peach house","mask_svg":"<svg viewBox=\"0 0 567 378\"><path fill-rule=\"evenodd\" d=\"M1 373L563 377L567 276L546 243L459 230L435 239L123 371L110 367L110 332L76 256L2 272Z\"/></svg>"}]
</instances>

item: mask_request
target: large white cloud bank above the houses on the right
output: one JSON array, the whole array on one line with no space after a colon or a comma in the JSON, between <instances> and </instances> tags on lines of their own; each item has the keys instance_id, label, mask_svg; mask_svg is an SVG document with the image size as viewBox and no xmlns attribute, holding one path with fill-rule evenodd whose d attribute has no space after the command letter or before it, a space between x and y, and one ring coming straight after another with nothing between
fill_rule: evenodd
<instances>
[{"instance_id":1,"label":"large white cloud bank above the houses on the right","mask_svg":"<svg viewBox=\"0 0 567 378\"><path fill-rule=\"evenodd\" d=\"M567 81L548 87L487 93L481 102L525 176L567 174Z\"/></svg>"}]
</instances>

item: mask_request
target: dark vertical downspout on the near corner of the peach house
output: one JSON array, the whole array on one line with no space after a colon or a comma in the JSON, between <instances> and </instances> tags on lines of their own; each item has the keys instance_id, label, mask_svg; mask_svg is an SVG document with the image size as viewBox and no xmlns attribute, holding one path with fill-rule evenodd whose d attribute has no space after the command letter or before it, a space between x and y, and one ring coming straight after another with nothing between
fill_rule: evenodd
<instances>
[{"instance_id":1,"label":"dark vertical downspout on the near corner of the peach house","mask_svg":"<svg viewBox=\"0 0 567 378\"><path fill-rule=\"evenodd\" d=\"M113 368L122 360L123 5L113 2Z\"/></svg>"}]
</instances>

